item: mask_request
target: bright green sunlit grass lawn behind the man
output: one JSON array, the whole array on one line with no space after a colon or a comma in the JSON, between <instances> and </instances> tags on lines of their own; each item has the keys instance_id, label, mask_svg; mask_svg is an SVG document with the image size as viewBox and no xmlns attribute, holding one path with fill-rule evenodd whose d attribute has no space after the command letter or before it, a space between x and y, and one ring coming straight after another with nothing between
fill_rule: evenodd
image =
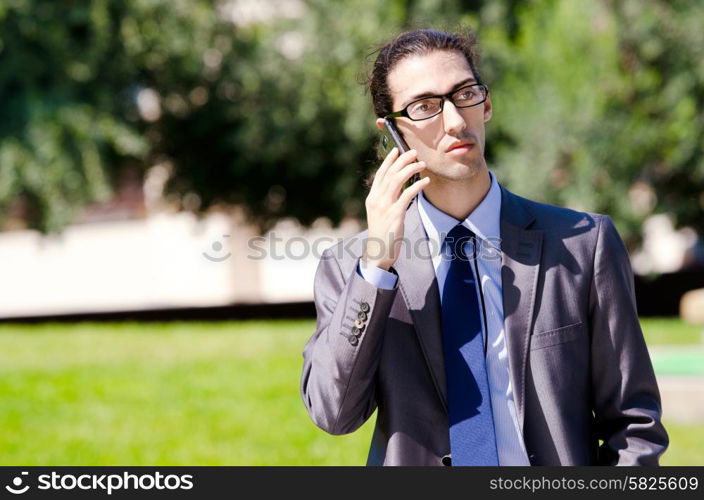
<instances>
[{"instance_id":1,"label":"bright green sunlit grass lawn behind the man","mask_svg":"<svg viewBox=\"0 0 704 500\"><path fill-rule=\"evenodd\" d=\"M329 436L301 401L313 328L0 325L0 465L363 465L374 417ZM662 463L704 464L704 423L666 426Z\"/></svg>"}]
</instances>

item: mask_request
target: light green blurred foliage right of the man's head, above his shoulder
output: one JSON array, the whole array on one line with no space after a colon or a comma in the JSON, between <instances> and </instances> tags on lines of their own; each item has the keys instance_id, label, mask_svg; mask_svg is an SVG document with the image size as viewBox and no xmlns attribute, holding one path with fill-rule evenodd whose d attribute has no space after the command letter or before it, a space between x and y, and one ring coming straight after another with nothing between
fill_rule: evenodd
<instances>
[{"instance_id":1,"label":"light green blurred foliage right of the man's head, above his shoulder","mask_svg":"<svg viewBox=\"0 0 704 500\"><path fill-rule=\"evenodd\" d=\"M525 4L518 30L484 23L500 177L529 197L610 214L629 246L671 212L704 230L704 6Z\"/></svg>"}]
</instances>

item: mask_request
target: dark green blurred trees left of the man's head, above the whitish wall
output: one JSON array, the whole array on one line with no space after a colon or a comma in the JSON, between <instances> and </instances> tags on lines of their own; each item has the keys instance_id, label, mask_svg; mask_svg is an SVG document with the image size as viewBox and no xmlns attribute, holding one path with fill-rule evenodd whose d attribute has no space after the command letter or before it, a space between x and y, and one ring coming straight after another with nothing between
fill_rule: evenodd
<instances>
[{"instance_id":1,"label":"dark green blurred trees left of the man's head, above the whitish wall","mask_svg":"<svg viewBox=\"0 0 704 500\"><path fill-rule=\"evenodd\" d=\"M59 230L126 164L160 162L185 208L238 203L262 229L359 215L377 139L360 62L441 4L309 1L243 23L225 1L12 0L0 209L24 197L31 226Z\"/></svg>"}]
</instances>

